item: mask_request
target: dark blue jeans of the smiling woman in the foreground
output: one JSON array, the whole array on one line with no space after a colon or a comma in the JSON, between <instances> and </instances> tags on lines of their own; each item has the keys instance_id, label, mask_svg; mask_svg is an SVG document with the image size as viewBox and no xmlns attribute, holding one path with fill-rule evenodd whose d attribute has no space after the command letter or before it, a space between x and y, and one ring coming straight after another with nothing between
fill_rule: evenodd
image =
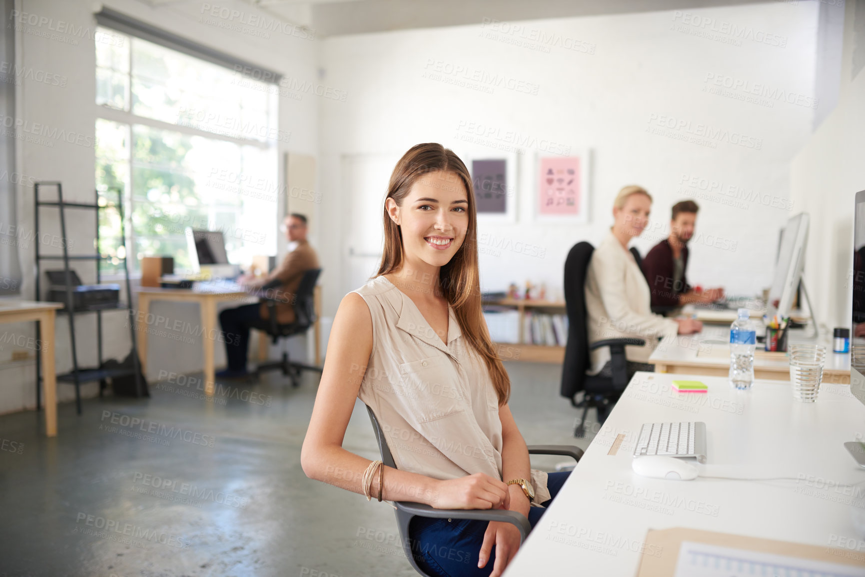
<instances>
[{"instance_id":1,"label":"dark blue jeans of the smiling woman in the foreground","mask_svg":"<svg viewBox=\"0 0 865 577\"><path fill-rule=\"evenodd\" d=\"M552 503L570 474L570 471L549 473L547 488L551 498L541 505L546 507ZM532 527L540 521L544 511L546 509L541 507L529 509ZM477 567L477 555L484 543L487 524L486 521L414 517L408 533L418 567L436 577L488 577L496 561L495 545L486 567Z\"/></svg>"}]
</instances>

